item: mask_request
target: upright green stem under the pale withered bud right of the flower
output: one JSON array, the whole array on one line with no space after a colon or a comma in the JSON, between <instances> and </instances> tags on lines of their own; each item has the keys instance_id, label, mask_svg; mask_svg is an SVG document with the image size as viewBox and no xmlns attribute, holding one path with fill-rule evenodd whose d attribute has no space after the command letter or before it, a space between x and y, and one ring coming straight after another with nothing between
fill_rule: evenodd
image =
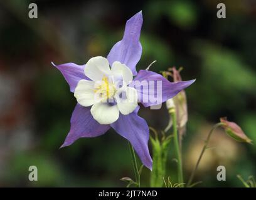
<instances>
[{"instance_id":1,"label":"upright green stem under the pale withered bud right of the flower","mask_svg":"<svg viewBox=\"0 0 256 200\"><path fill-rule=\"evenodd\" d=\"M182 158L181 158L181 149L179 147L179 136L178 136L178 130L177 130L177 119L176 119L176 113L175 110L171 113L171 118L173 119L173 138L174 138L174 148L176 153L176 158L178 160L178 183L184 183L183 182L183 171L182 171Z\"/></svg>"}]
</instances>

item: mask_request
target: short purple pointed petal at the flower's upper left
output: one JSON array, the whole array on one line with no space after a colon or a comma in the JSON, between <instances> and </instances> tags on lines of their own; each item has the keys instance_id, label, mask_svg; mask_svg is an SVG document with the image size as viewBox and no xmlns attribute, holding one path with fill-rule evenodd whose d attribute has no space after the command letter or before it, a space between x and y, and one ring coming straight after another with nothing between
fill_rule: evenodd
<instances>
[{"instance_id":1,"label":"short purple pointed petal at the flower's upper left","mask_svg":"<svg viewBox=\"0 0 256 200\"><path fill-rule=\"evenodd\" d=\"M60 65L55 65L54 63L51 64L60 70L65 80L70 85L70 91L72 93L75 91L75 88L80 80L89 80L84 73L85 65L77 65L74 63L65 63Z\"/></svg>"}]
</instances>

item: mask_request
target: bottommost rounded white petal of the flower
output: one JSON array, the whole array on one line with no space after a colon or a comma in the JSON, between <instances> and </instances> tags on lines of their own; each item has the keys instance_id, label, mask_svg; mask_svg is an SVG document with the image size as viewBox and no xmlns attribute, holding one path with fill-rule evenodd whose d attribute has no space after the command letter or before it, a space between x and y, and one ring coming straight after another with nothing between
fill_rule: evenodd
<instances>
[{"instance_id":1,"label":"bottommost rounded white petal of the flower","mask_svg":"<svg viewBox=\"0 0 256 200\"><path fill-rule=\"evenodd\" d=\"M93 118L100 124L112 124L119 118L119 109L117 105L109 103L93 104L91 108Z\"/></svg>"}]
</instances>

